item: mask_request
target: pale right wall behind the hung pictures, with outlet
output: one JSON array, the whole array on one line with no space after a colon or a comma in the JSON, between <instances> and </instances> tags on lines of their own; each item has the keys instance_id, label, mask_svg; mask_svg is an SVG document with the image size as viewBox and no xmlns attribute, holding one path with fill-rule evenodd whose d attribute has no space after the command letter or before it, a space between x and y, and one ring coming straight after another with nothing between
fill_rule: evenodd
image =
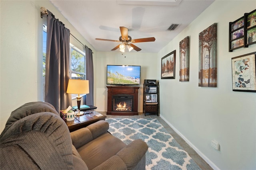
<instances>
[{"instance_id":1,"label":"pale right wall behind the hung pictures, with outlet","mask_svg":"<svg viewBox=\"0 0 256 170\"><path fill-rule=\"evenodd\" d=\"M233 92L231 58L256 51L256 44L228 52L229 22L256 9L256 1L217 0L158 53L176 49L176 79L160 80L161 117L214 169L256 169L256 93ZM198 34L218 23L217 88L198 87ZM190 36L190 81L179 82L179 42ZM158 79L160 79L158 69ZM220 150L211 141L220 143Z\"/></svg>"}]
</instances>

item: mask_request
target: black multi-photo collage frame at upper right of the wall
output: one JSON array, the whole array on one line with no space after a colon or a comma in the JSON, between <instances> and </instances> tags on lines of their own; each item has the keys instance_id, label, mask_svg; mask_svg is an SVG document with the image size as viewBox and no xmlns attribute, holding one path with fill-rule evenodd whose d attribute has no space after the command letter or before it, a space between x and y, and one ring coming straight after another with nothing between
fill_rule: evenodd
<instances>
[{"instance_id":1,"label":"black multi-photo collage frame at upper right of the wall","mask_svg":"<svg viewBox=\"0 0 256 170\"><path fill-rule=\"evenodd\" d=\"M256 43L256 10L229 23L229 52Z\"/></svg>"}]
</instances>

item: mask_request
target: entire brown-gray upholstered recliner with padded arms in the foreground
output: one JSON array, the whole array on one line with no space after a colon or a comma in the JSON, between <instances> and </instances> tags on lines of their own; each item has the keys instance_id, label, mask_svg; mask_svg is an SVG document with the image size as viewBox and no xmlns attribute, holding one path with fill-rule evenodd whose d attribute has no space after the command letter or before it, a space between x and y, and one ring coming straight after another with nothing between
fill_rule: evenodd
<instances>
[{"instance_id":1,"label":"entire brown-gray upholstered recliner with padded arms in the foreground","mask_svg":"<svg viewBox=\"0 0 256 170\"><path fill-rule=\"evenodd\" d=\"M108 128L98 121L70 133L51 104L24 104L12 111L0 135L0 169L145 169L147 144L126 145Z\"/></svg>"}]
</instances>

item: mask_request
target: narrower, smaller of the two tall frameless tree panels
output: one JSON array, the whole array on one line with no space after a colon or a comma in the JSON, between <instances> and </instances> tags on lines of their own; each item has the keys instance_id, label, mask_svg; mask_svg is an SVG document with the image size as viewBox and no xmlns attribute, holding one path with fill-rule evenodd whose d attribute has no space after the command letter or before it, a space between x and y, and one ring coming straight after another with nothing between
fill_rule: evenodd
<instances>
[{"instance_id":1,"label":"narrower, smaller of the two tall frameless tree panels","mask_svg":"<svg viewBox=\"0 0 256 170\"><path fill-rule=\"evenodd\" d=\"M180 41L180 82L189 81L189 36Z\"/></svg>"}]
</instances>

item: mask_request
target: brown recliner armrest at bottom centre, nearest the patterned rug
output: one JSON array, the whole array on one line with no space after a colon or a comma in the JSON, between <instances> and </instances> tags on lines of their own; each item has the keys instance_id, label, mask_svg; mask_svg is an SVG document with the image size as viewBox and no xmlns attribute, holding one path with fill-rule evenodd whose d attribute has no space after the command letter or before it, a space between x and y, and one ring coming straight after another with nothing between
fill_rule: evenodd
<instances>
[{"instance_id":1,"label":"brown recliner armrest at bottom centre, nearest the patterned rug","mask_svg":"<svg viewBox=\"0 0 256 170\"><path fill-rule=\"evenodd\" d=\"M101 169L134 169L137 164L145 159L145 154L148 150L148 145L141 139L132 141L129 145L120 150L116 155L112 156L94 170Z\"/></svg>"}]
</instances>

